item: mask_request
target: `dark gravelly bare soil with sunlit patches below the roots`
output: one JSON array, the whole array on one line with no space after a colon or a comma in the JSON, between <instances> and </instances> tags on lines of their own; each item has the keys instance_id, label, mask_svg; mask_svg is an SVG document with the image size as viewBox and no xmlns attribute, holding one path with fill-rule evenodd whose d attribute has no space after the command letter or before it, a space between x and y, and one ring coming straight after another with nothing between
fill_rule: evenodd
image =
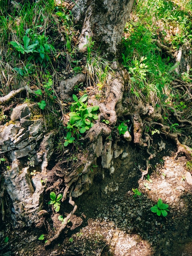
<instances>
[{"instance_id":1,"label":"dark gravelly bare soil with sunlit patches below the roots","mask_svg":"<svg viewBox=\"0 0 192 256\"><path fill-rule=\"evenodd\" d=\"M188 160L184 155L175 157L166 146L150 170L150 183L146 177L141 180L141 152L134 148L130 152L132 161L124 155L114 173L101 170L89 191L74 199L78 210L54 244L45 247L45 240L38 240L42 234L49 238L60 225L60 214L50 209L45 225L25 230L2 225L0 255L192 255L192 193L185 178ZM132 188L142 194L134 198ZM150 211L159 198L169 204L167 217ZM70 210L69 204L62 206L63 212Z\"/></svg>"}]
</instances>

